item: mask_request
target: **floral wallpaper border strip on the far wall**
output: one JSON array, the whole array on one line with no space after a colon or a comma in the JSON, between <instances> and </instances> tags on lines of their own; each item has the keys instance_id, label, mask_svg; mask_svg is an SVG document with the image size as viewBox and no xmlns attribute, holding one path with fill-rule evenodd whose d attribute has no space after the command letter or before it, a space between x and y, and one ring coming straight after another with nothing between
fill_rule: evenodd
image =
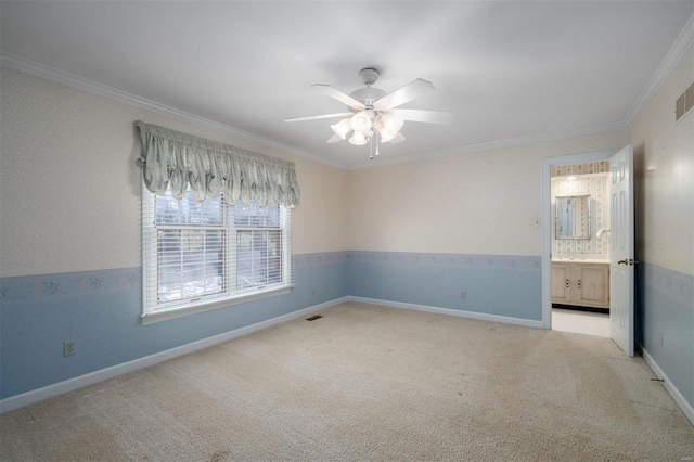
<instances>
[{"instance_id":1,"label":"floral wallpaper border strip on the far wall","mask_svg":"<svg viewBox=\"0 0 694 462\"><path fill-rule=\"evenodd\" d=\"M428 254L410 252L348 252L349 261L408 264L444 268L504 269L540 271L541 258L524 255Z\"/></svg>"}]
</instances>

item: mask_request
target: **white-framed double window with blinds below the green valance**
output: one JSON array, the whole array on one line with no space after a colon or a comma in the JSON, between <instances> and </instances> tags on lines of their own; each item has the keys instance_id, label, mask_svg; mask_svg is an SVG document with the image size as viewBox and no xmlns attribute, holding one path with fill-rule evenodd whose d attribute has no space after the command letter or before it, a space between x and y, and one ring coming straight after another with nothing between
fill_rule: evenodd
<instances>
[{"instance_id":1,"label":"white-framed double window with blinds below the green valance","mask_svg":"<svg viewBox=\"0 0 694 462\"><path fill-rule=\"evenodd\" d=\"M142 191L143 322L288 292L290 209Z\"/></svg>"}]
</instances>

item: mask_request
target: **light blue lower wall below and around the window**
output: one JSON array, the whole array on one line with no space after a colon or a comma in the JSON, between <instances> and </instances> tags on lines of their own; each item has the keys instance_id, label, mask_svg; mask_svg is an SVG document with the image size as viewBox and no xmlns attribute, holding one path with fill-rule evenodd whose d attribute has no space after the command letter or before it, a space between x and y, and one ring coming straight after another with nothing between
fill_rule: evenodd
<instances>
[{"instance_id":1,"label":"light blue lower wall below and around the window","mask_svg":"<svg viewBox=\"0 0 694 462\"><path fill-rule=\"evenodd\" d=\"M346 252L294 257L291 294L142 325L140 268L0 280L0 398L347 295ZM63 357L63 342L77 354Z\"/></svg>"}]
</instances>

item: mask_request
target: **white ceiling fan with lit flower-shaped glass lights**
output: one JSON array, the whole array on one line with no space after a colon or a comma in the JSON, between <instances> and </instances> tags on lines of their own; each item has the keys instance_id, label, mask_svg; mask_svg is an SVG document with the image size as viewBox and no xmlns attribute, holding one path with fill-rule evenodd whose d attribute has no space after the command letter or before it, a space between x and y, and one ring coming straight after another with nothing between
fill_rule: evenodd
<instances>
[{"instance_id":1,"label":"white ceiling fan with lit flower-shaped glass lights","mask_svg":"<svg viewBox=\"0 0 694 462\"><path fill-rule=\"evenodd\" d=\"M391 142L395 144L404 141L406 138L400 133L400 129L406 120L428 124L451 124L453 121L453 114L451 113L397 108L415 98L434 91L434 86L428 80L417 78L393 93L386 93L378 88L372 87L378 79L377 69L367 67L359 70L358 75L367 87L355 90L349 94L343 93L329 85L313 85L313 87L319 88L329 97L347 104L348 112L293 117L286 118L284 121L343 117L337 124L330 126L335 134L327 142L335 143L340 140L347 140L355 145L363 145L371 142L371 158L373 158L374 144L376 147L375 154L378 155L378 143Z\"/></svg>"}]
</instances>

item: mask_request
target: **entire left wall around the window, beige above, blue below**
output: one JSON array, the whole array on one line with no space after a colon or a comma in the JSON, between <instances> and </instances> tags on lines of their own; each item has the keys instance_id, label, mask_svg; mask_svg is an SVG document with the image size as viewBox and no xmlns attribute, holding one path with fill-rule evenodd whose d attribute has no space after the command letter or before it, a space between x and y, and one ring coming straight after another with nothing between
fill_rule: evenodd
<instances>
[{"instance_id":1,"label":"entire left wall around the window, beige above, blue below","mask_svg":"<svg viewBox=\"0 0 694 462\"><path fill-rule=\"evenodd\" d=\"M346 172L0 72L0 398L347 295ZM296 163L292 294L140 324L138 119ZM64 341L75 356L62 356Z\"/></svg>"}]
</instances>

